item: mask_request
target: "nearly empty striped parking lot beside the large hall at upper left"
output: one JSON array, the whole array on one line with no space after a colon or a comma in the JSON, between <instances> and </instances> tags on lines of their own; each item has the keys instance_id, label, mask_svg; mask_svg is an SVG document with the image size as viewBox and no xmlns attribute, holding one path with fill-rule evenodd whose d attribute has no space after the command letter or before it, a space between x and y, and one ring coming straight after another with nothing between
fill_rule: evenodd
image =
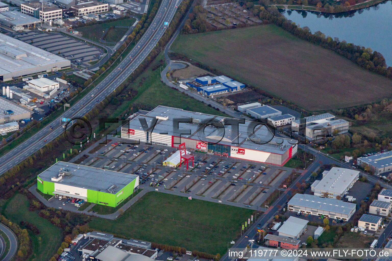
<instances>
[{"instance_id":1,"label":"nearly empty striped parking lot beside the large hall at upper left","mask_svg":"<svg viewBox=\"0 0 392 261\"><path fill-rule=\"evenodd\" d=\"M100 55L103 55L103 51L98 47L60 33L25 32L16 34L15 37L48 52L67 58L72 63L78 65L88 66L89 61L98 60Z\"/></svg>"}]
</instances>

